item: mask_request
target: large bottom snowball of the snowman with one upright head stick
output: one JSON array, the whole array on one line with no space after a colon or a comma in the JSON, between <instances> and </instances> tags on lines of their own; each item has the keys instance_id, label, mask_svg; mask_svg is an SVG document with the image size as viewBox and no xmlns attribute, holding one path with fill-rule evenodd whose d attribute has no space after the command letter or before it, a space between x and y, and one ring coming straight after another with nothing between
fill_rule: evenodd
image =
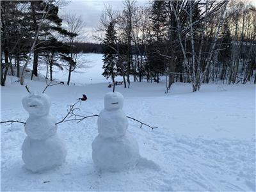
<instances>
[{"instance_id":1,"label":"large bottom snowball of the snowman with one upright head stick","mask_svg":"<svg viewBox=\"0 0 256 192\"><path fill-rule=\"evenodd\" d=\"M131 134L118 138L98 135L92 143L93 162L102 172L120 172L134 168L140 159L138 143Z\"/></svg>"}]
</instances>

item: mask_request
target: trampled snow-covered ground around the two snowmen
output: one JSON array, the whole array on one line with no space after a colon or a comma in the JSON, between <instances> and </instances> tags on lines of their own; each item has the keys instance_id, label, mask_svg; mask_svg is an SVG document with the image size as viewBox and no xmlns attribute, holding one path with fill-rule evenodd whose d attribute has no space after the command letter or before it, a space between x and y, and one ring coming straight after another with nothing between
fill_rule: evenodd
<instances>
[{"instance_id":1,"label":"trampled snow-covered ground around the two snowmen","mask_svg":"<svg viewBox=\"0 0 256 192\"><path fill-rule=\"evenodd\" d=\"M99 57L99 55L98 55ZM61 120L68 105L85 93L82 115L99 114L108 82L100 77L95 62L87 74L76 75L83 86L47 88L51 114ZM98 63L98 64L97 64ZM100 64L100 66L99 66ZM98 70L96 70L98 68ZM96 73L97 71L97 73ZM54 77L57 78L57 74ZM82 78L82 79L81 79ZM90 81L84 79L99 79ZM61 78L60 78L61 79ZM94 84L95 83L95 84ZM42 91L44 81L28 81L29 89ZM164 94L164 83L131 83L116 86L125 97L124 112L147 124L151 130L129 120L145 159L134 170L99 173L92 161L92 141L97 136L97 118L76 124L59 124L58 133L67 144L65 163L51 171L31 173L23 167L20 147L26 134L22 124L1 124L2 191L255 191L255 85L204 84L191 93L190 84L175 83ZM26 121L22 98L24 86L8 77L1 88L1 120Z\"/></svg>"}]
</instances>

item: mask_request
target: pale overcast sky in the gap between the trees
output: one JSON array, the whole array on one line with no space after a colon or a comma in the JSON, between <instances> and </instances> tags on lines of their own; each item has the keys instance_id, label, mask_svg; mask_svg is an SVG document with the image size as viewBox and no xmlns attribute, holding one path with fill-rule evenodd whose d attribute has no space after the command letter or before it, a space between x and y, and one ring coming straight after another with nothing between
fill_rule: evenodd
<instances>
[{"instance_id":1,"label":"pale overcast sky in the gap between the trees","mask_svg":"<svg viewBox=\"0 0 256 192\"><path fill-rule=\"evenodd\" d=\"M137 3L138 5L145 5L148 3L148 0L139 0ZM99 17L104 11L105 4L112 6L113 10L122 10L123 7L123 1L121 0L72 0L69 1L67 6L61 8L60 15L65 13L81 15L86 24L84 30L87 31L87 37L83 41L95 42L92 38L93 31L99 26Z\"/></svg>"}]
</instances>

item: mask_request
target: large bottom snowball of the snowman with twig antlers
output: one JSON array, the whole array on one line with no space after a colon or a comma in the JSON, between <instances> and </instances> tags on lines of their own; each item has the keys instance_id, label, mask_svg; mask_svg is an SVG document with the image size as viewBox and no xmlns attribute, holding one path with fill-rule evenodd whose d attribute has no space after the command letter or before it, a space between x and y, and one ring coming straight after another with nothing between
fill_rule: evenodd
<instances>
[{"instance_id":1,"label":"large bottom snowball of the snowman with twig antlers","mask_svg":"<svg viewBox=\"0 0 256 192\"><path fill-rule=\"evenodd\" d=\"M32 140L28 136L22 145L22 159L32 172L42 172L61 165L67 156L65 143L56 134L47 140Z\"/></svg>"}]
</instances>

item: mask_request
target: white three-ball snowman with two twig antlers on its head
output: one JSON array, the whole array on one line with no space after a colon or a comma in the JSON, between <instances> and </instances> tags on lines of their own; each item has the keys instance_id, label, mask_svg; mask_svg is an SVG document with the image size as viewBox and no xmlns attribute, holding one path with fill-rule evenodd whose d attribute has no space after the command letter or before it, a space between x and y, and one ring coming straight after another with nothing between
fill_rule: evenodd
<instances>
[{"instance_id":1,"label":"white three-ball snowman with two twig antlers on its head","mask_svg":"<svg viewBox=\"0 0 256 192\"><path fill-rule=\"evenodd\" d=\"M32 172L42 172L61 165L67 156L65 143L57 135L56 119L49 115L51 99L45 93L29 93L22 99L29 118L22 144L22 159Z\"/></svg>"}]
</instances>

